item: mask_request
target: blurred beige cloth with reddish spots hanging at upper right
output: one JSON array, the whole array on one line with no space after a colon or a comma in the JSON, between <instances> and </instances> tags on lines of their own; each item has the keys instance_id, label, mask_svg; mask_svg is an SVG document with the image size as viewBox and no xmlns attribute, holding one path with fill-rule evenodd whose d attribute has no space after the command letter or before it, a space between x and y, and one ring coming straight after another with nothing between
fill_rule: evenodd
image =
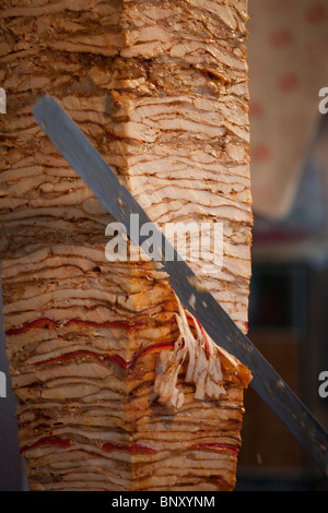
<instances>
[{"instance_id":1,"label":"blurred beige cloth with reddish spots hanging at upper right","mask_svg":"<svg viewBox=\"0 0 328 513\"><path fill-rule=\"evenodd\" d=\"M249 0L249 11L254 212L281 220L293 206L323 118L328 0Z\"/></svg>"}]
</instances>

